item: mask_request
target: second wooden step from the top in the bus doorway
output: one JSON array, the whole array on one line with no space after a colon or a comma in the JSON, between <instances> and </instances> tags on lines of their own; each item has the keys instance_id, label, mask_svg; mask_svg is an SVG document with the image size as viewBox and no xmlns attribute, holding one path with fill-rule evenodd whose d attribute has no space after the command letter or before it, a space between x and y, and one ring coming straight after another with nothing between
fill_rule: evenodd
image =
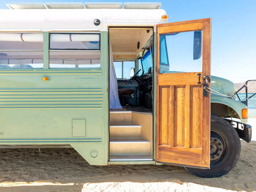
<instances>
[{"instance_id":1,"label":"second wooden step from the top in the bus doorway","mask_svg":"<svg viewBox=\"0 0 256 192\"><path fill-rule=\"evenodd\" d=\"M140 138L141 126L132 123L111 123L110 138Z\"/></svg>"}]
</instances>

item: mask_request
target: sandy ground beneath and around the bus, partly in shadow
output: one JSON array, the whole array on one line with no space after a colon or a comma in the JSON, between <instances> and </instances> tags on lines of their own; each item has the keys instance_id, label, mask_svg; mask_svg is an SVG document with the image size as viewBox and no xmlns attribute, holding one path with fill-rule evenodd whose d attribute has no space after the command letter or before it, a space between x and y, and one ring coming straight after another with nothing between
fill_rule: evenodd
<instances>
[{"instance_id":1,"label":"sandy ground beneath and around the bus, partly in shadow","mask_svg":"<svg viewBox=\"0 0 256 192\"><path fill-rule=\"evenodd\" d=\"M256 118L248 124L255 127ZM170 165L91 166L70 148L0 149L0 192L256 191L256 141L241 147L237 165L220 178Z\"/></svg>"}]
</instances>

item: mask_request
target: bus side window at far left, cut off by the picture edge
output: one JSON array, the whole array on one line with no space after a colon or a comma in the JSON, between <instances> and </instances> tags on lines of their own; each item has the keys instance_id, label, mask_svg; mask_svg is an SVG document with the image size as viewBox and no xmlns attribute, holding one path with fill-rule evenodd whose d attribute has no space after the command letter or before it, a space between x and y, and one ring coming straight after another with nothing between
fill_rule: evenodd
<instances>
[{"instance_id":1,"label":"bus side window at far left, cut off by the picture edge","mask_svg":"<svg viewBox=\"0 0 256 192\"><path fill-rule=\"evenodd\" d=\"M0 33L0 68L43 68L43 33Z\"/></svg>"}]
</instances>

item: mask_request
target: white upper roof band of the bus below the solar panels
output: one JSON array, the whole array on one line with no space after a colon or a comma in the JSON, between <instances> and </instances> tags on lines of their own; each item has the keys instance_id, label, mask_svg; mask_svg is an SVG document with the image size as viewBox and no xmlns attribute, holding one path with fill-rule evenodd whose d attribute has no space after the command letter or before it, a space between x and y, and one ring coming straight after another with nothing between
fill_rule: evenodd
<instances>
[{"instance_id":1,"label":"white upper roof band of the bus below the solar panels","mask_svg":"<svg viewBox=\"0 0 256 192\"><path fill-rule=\"evenodd\" d=\"M0 31L107 31L108 26L155 26L166 23L165 10L18 9L0 11ZM95 26L94 20L100 25Z\"/></svg>"}]
</instances>

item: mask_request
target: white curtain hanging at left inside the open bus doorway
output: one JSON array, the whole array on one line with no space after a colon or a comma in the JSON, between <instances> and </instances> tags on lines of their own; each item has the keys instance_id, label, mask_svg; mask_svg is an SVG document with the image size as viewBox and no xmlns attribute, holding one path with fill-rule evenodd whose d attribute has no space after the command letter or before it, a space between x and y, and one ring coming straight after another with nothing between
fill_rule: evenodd
<instances>
[{"instance_id":1,"label":"white curtain hanging at left inside the open bus doorway","mask_svg":"<svg viewBox=\"0 0 256 192\"><path fill-rule=\"evenodd\" d=\"M118 87L116 71L113 63L112 46L109 42L109 109L120 109L122 108L119 97L118 97Z\"/></svg>"}]
</instances>

